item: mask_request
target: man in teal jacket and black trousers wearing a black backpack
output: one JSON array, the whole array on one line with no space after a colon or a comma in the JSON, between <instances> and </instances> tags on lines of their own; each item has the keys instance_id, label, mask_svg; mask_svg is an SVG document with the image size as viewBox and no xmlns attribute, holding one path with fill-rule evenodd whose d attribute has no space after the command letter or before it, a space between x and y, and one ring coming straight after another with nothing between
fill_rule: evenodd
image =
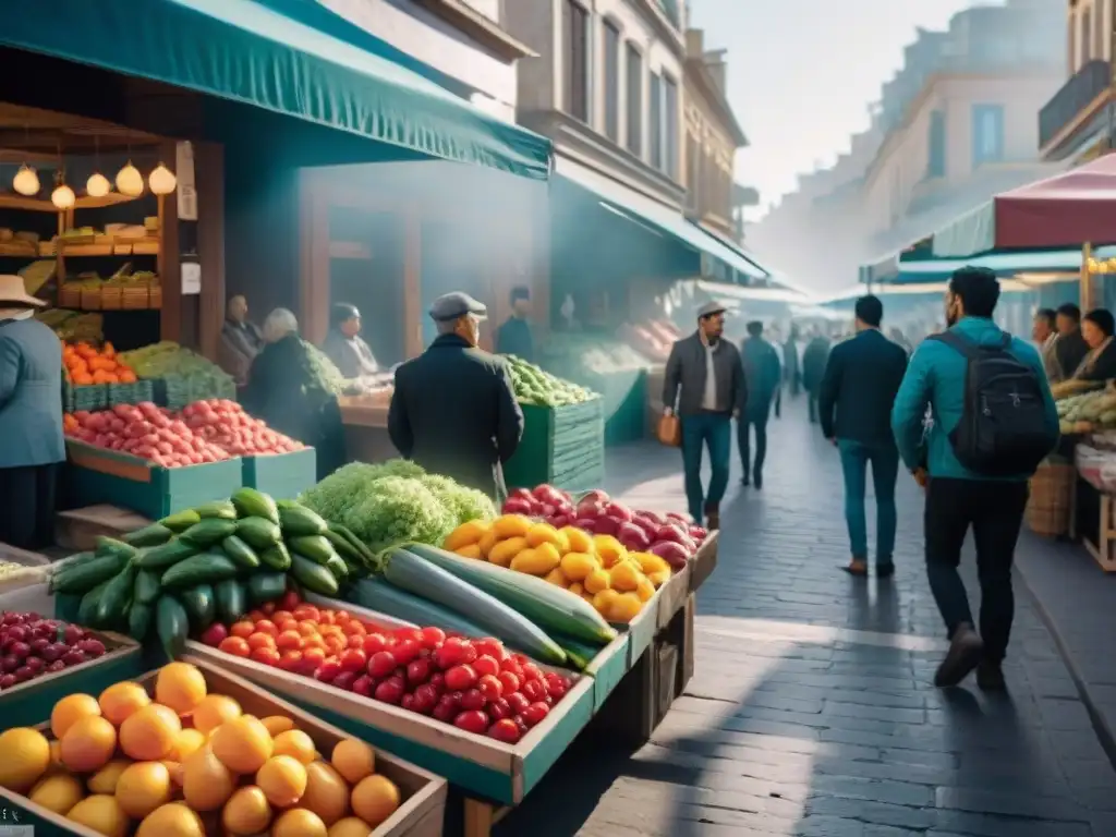
<instances>
[{"instance_id":1,"label":"man in teal jacket and black trousers wearing a black backpack","mask_svg":"<svg viewBox=\"0 0 1116 837\"><path fill-rule=\"evenodd\" d=\"M926 575L950 637L937 686L956 685L977 668L981 689L1004 689L1001 665L1014 615L1011 566L1027 481L1058 442L1042 359L992 321L999 297L992 271L953 273L947 328L915 352L892 411L903 462L926 489ZM927 404L934 421L923 470ZM958 573L970 527L981 586L979 634Z\"/></svg>"}]
</instances>

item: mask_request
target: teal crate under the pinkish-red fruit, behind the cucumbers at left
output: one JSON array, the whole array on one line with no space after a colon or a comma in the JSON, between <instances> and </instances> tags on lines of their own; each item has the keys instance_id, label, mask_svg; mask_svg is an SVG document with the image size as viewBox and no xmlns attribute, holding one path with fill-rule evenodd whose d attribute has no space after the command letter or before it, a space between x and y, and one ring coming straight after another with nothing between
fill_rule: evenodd
<instances>
[{"instance_id":1,"label":"teal crate under the pinkish-red fruit, behind the cucumbers at left","mask_svg":"<svg viewBox=\"0 0 1116 837\"><path fill-rule=\"evenodd\" d=\"M162 468L126 453L67 440L70 485L77 507L108 503L152 520L223 500L241 487L239 458L185 468Z\"/></svg>"}]
</instances>

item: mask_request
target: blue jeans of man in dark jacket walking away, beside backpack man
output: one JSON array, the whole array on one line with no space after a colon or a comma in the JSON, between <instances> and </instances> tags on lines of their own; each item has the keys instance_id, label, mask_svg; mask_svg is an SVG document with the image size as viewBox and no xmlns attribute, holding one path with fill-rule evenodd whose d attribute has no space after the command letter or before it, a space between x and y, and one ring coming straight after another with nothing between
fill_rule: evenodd
<instances>
[{"instance_id":1,"label":"blue jeans of man in dark jacket walking away, beside backpack man","mask_svg":"<svg viewBox=\"0 0 1116 837\"><path fill-rule=\"evenodd\" d=\"M895 480L899 470L899 453L895 443L867 444L850 439L837 440L840 465L845 474L845 522L853 558L868 559L868 523L864 514L867 468L872 463L872 482L876 493L876 564L888 565L895 551Z\"/></svg>"}]
</instances>

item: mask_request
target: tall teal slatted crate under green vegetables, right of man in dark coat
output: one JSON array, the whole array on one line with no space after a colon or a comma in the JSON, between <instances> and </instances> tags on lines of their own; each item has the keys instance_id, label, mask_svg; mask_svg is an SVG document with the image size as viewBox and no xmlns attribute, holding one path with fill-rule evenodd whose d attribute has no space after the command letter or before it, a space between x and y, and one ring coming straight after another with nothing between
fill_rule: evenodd
<instances>
[{"instance_id":1,"label":"tall teal slatted crate under green vegetables, right of man in dark coat","mask_svg":"<svg viewBox=\"0 0 1116 837\"><path fill-rule=\"evenodd\" d=\"M523 439L504 463L509 488L543 482L566 490L596 488L604 478L602 400L565 407L523 405Z\"/></svg>"}]
</instances>

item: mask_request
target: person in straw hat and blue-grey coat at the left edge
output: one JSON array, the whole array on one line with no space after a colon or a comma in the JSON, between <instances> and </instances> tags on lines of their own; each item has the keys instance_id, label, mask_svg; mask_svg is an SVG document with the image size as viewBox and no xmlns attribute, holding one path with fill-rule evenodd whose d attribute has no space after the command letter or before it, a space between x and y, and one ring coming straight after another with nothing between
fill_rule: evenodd
<instances>
[{"instance_id":1,"label":"person in straw hat and blue-grey coat at the left edge","mask_svg":"<svg viewBox=\"0 0 1116 837\"><path fill-rule=\"evenodd\" d=\"M0 276L0 542L54 541L55 485L66 461L62 347L35 319L41 299L18 276Z\"/></svg>"}]
</instances>

